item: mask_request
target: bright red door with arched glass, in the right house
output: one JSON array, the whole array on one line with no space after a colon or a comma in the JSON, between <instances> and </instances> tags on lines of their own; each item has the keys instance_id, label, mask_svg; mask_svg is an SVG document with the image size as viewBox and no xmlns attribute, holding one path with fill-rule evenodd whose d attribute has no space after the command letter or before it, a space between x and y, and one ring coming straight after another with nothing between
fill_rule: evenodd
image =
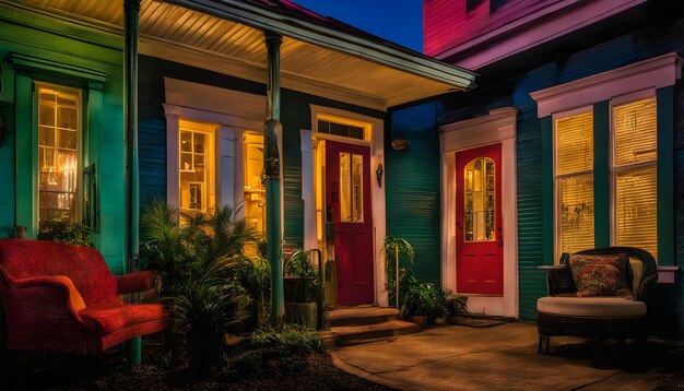
<instances>
[{"instance_id":1,"label":"bright red door with arched glass, in the right house","mask_svg":"<svg viewBox=\"0 0 684 391\"><path fill-rule=\"evenodd\" d=\"M457 153L456 180L457 292L503 295L502 145Z\"/></svg>"}]
</instances>

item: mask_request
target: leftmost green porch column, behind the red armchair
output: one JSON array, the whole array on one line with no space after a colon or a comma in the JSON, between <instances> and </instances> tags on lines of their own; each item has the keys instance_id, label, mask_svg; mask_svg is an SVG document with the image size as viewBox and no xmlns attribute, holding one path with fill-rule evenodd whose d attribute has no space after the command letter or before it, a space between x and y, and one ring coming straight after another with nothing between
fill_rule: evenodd
<instances>
[{"instance_id":1,"label":"leftmost green porch column, behind the red armchair","mask_svg":"<svg viewBox=\"0 0 684 391\"><path fill-rule=\"evenodd\" d=\"M127 272L138 268L140 189L138 169L138 16L140 0L123 0L123 147L126 154ZM140 336L127 342L131 364L141 360Z\"/></svg>"}]
</instances>

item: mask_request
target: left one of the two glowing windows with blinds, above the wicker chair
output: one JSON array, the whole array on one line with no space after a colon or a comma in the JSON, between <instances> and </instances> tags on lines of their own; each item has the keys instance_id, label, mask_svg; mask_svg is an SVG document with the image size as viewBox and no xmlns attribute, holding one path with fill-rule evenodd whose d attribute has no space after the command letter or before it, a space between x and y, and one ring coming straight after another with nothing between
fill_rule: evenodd
<instances>
[{"instance_id":1,"label":"left one of the two glowing windows with blinds, above the wicker chair","mask_svg":"<svg viewBox=\"0 0 684 391\"><path fill-rule=\"evenodd\" d=\"M559 256L593 248L593 112L558 118L554 126Z\"/></svg>"}]
</instances>

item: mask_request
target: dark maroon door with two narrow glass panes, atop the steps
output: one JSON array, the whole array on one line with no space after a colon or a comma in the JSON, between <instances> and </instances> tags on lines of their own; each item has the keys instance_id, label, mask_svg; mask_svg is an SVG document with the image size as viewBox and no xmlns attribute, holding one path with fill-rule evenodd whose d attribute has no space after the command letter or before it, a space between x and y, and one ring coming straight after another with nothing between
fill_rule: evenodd
<instances>
[{"instance_id":1,"label":"dark maroon door with two narrow glass panes, atop the steps","mask_svg":"<svg viewBox=\"0 0 684 391\"><path fill-rule=\"evenodd\" d=\"M326 206L334 221L338 304L374 301L370 152L326 141Z\"/></svg>"}]
</instances>

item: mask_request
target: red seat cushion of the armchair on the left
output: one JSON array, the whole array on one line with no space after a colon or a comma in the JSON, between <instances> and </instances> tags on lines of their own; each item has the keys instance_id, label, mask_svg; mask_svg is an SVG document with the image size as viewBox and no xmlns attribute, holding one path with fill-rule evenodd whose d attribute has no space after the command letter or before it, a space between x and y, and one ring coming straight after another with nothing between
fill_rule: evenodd
<instances>
[{"instance_id":1,"label":"red seat cushion of the armchair on the left","mask_svg":"<svg viewBox=\"0 0 684 391\"><path fill-rule=\"evenodd\" d=\"M79 312L83 323L97 333L107 335L126 328L154 322L168 317L158 304L115 304L86 307Z\"/></svg>"}]
</instances>

